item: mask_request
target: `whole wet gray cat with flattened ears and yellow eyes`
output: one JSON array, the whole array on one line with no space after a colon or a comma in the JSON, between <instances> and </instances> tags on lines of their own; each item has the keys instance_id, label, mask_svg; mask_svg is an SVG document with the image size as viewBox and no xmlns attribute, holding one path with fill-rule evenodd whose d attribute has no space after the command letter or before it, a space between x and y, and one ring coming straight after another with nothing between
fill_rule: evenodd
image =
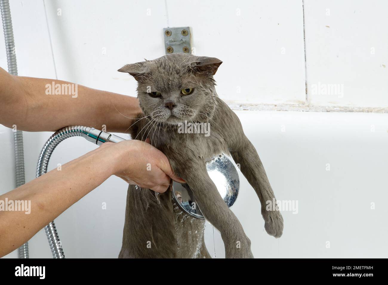
<instances>
[{"instance_id":1,"label":"whole wet gray cat with flattened ears and yellow eyes","mask_svg":"<svg viewBox=\"0 0 388 285\"><path fill-rule=\"evenodd\" d=\"M169 54L118 71L138 81L144 115L130 128L132 138L149 137L168 157L175 174L187 181L204 217L220 231L225 256L248 258L253 257L251 242L209 178L205 161L223 153L241 165L260 199L269 235L282 235L283 218L279 211L265 210L266 201L275 196L263 164L236 114L217 96L213 75L221 63L214 57ZM184 121L209 123L210 135L179 133L178 123ZM204 221L183 218L171 191L156 195L130 185L126 203L119 257L210 257L204 245Z\"/></svg>"}]
</instances>

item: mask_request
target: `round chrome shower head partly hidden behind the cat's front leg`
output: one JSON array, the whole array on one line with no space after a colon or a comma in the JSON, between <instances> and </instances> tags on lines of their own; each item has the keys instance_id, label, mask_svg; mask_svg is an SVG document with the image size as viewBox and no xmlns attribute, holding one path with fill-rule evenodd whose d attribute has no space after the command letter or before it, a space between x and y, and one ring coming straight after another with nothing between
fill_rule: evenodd
<instances>
[{"instance_id":1,"label":"round chrome shower head partly hidden behind the cat's front leg","mask_svg":"<svg viewBox=\"0 0 388 285\"><path fill-rule=\"evenodd\" d=\"M218 155L206 162L206 170L222 199L229 208L232 207L240 188L239 174L232 160L225 154ZM194 194L187 183L180 184L174 181L172 197L182 212L193 218L205 219L200 209L201 206L196 203Z\"/></svg>"}]
</instances>

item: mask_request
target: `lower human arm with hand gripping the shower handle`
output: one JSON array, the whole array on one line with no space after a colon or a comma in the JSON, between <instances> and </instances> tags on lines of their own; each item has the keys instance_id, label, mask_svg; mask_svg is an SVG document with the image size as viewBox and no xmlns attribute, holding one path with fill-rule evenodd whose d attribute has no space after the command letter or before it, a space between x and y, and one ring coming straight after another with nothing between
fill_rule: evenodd
<instances>
[{"instance_id":1,"label":"lower human arm with hand gripping the shower handle","mask_svg":"<svg viewBox=\"0 0 388 285\"><path fill-rule=\"evenodd\" d=\"M145 170L147 164L150 171ZM0 196L0 201L31 201L31 211L0 211L0 257L17 249L71 205L117 175L140 187L164 192L170 177L180 180L158 149L138 140L104 143L98 149L62 165ZM12 225L12 229L11 226Z\"/></svg>"}]
</instances>

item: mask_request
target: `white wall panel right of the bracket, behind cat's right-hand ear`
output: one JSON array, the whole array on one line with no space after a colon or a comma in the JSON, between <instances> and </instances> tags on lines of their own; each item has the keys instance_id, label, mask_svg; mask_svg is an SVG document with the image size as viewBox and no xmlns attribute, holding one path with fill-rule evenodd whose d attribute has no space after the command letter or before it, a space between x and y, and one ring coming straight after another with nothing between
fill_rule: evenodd
<instances>
[{"instance_id":1,"label":"white wall panel right of the bracket, behind cat's right-hand ear","mask_svg":"<svg viewBox=\"0 0 388 285\"><path fill-rule=\"evenodd\" d=\"M232 102L305 102L301 1L168 0L170 26L191 26L198 55L223 60L218 95Z\"/></svg>"}]
</instances>

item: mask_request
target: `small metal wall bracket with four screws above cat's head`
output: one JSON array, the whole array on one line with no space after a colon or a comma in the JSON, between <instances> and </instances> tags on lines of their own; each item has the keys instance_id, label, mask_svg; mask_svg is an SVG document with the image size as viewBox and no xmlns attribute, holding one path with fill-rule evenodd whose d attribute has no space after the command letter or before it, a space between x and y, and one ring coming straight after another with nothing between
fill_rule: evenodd
<instances>
[{"instance_id":1,"label":"small metal wall bracket with four screws above cat's head","mask_svg":"<svg viewBox=\"0 0 388 285\"><path fill-rule=\"evenodd\" d=\"M191 29L190 27L164 28L166 54L184 52L191 54Z\"/></svg>"}]
</instances>

